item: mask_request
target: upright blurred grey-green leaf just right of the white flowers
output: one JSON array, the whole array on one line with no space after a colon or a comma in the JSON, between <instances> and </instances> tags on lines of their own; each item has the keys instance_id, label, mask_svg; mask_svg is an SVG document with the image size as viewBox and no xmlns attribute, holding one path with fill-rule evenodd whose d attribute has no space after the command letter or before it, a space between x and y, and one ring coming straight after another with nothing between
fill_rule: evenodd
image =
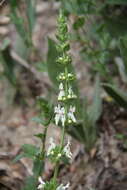
<instances>
[{"instance_id":1,"label":"upright blurred grey-green leaf just right of the white flowers","mask_svg":"<svg viewBox=\"0 0 127 190\"><path fill-rule=\"evenodd\" d=\"M102 100L101 100L100 78L99 76L97 76L95 89L94 89L93 104L89 108L89 120L92 122L92 124L95 125L101 113L102 113Z\"/></svg>"}]
</instances>

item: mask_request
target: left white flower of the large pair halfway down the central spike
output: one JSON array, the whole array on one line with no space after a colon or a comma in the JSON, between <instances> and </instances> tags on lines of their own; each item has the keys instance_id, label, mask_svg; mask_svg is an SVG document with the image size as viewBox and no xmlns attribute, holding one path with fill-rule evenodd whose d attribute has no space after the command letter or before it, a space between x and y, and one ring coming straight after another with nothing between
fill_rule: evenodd
<instances>
[{"instance_id":1,"label":"left white flower of the large pair halfway down the central spike","mask_svg":"<svg viewBox=\"0 0 127 190\"><path fill-rule=\"evenodd\" d=\"M66 117L65 117L65 108L64 107L60 107L60 105L58 104L57 107L55 107L55 123L56 125L58 125L59 121L62 122L62 126L64 126L65 121L66 121Z\"/></svg>"}]
</instances>

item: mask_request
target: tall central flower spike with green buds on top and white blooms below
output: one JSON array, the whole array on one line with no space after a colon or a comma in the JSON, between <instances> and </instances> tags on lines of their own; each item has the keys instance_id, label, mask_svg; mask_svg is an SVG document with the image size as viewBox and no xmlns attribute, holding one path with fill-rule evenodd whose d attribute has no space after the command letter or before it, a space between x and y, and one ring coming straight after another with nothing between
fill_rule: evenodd
<instances>
[{"instance_id":1,"label":"tall central flower spike with green buds on top and white blooms below","mask_svg":"<svg viewBox=\"0 0 127 190\"><path fill-rule=\"evenodd\" d=\"M50 146L47 151L47 156L51 159L53 163L55 163L55 169L54 169L54 175L51 180L51 182L43 182L40 180L41 183L39 188L45 190L62 190L62 189L68 189L69 183L64 186L63 184L59 185L57 184L57 177L59 172L59 165L61 161L64 159L72 158L72 153L70 150L70 142L68 141L67 145L64 146L64 139L65 139L65 132L66 132L66 126L70 125L71 123L76 122L75 118L75 106L73 105L73 102L71 104L71 100L77 98L75 93L73 92L71 81L75 79L74 74L68 70L69 64L71 64L71 55L67 53L70 49L70 45L68 42L68 29L67 29L67 23L66 18L62 11L60 11L60 16L58 18L58 34L57 39L59 41L59 44L57 45L57 49L59 52L59 57L57 58L57 63L61 64L63 66L62 71L57 76L59 83L59 94L58 94L58 105L54 108L54 120L55 124L58 126L59 123L61 123L62 127L62 133L61 133L61 139L60 139L60 145L56 145L53 142L53 139L50 140ZM46 139L46 133L47 128L44 129L44 137L42 139L42 158L45 158L45 139Z\"/></svg>"}]
</instances>

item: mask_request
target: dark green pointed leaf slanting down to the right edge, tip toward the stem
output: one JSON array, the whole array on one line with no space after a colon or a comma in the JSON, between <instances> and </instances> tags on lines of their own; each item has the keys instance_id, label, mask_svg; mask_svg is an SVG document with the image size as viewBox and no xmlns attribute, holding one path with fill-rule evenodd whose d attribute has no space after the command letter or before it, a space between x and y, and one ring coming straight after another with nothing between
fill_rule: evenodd
<instances>
[{"instance_id":1,"label":"dark green pointed leaf slanting down to the right edge, tip toward the stem","mask_svg":"<svg viewBox=\"0 0 127 190\"><path fill-rule=\"evenodd\" d=\"M111 96L120 106L127 108L127 95L111 84L102 84L105 91Z\"/></svg>"}]
</instances>

